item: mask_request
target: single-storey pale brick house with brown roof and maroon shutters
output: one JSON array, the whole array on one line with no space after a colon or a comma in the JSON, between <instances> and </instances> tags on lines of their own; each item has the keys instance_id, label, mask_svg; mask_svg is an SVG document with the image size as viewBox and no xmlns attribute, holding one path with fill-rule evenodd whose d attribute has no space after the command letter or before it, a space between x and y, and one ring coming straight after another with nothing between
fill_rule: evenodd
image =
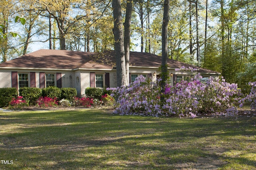
<instances>
[{"instance_id":1,"label":"single-storey pale brick house with brown roof and maroon shutters","mask_svg":"<svg viewBox=\"0 0 256 170\"><path fill-rule=\"evenodd\" d=\"M116 59L113 56L113 51L103 54L41 49L0 63L0 88L72 87L76 88L78 96L82 96L88 87L116 87ZM129 81L134 81L140 74L156 81L160 66L160 56L130 52ZM171 85L183 79L184 73L175 71L182 66L197 68L204 77L220 75L219 72L168 59Z\"/></svg>"}]
</instances>

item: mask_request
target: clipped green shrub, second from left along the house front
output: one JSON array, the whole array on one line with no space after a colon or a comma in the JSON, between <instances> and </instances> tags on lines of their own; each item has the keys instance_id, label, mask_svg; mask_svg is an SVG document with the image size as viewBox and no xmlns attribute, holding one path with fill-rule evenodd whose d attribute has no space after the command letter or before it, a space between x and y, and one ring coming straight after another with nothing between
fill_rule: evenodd
<instances>
[{"instance_id":1,"label":"clipped green shrub, second from left along the house front","mask_svg":"<svg viewBox=\"0 0 256 170\"><path fill-rule=\"evenodd\" d=\"M36 100L38 100L42 96L42 89L34 88L34 87L23 87L19 89L20 96L23 97L26 102L30 105L36 104Z\"/></svg>"}]
</instances>

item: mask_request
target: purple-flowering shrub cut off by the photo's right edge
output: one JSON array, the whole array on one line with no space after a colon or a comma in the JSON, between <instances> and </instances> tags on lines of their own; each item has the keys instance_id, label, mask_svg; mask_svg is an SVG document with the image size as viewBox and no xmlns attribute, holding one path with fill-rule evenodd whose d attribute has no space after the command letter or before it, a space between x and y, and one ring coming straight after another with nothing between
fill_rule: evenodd
<instances>
[{"instance_id":1,"label":"purple-flowering shrub cut off by the photo's right edge","mask_svg":"<svg viewBox=\"0 0 256 170\"><path fill-rule=\"evenodd\" d=\"M256 109L256 82L249 82L249 85L252 86L251 92L239 101L240 107L242 107L245 102L249 102L251 109Z\"/></svg>"}]
</instances>

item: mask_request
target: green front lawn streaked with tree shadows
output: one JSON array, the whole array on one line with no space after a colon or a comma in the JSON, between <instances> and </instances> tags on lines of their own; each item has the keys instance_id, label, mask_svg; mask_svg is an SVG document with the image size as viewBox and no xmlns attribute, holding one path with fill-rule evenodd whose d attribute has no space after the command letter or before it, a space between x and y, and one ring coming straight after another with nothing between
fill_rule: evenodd
<instances>
[{"instance_id":1,"label":"green front lawn streaked with tree shadows","mask_svg":"<svg viewBox=\"0 0 256 170\"><path fill-rule=\"evenodd\" d=\"M256 116L0 112L0 169L256 169Z\"/></svg>"}]
</instances>

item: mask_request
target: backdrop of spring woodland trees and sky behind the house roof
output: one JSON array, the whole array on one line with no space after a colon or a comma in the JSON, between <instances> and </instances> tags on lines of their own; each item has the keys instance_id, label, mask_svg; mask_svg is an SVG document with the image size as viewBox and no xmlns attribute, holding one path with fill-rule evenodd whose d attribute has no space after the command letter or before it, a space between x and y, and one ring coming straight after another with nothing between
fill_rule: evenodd
<instances>
[{"instance_id":1,"label":"backdrop of spring woodland trees and sky behind the house roof","mask_svg":"<svg viewBox=\"0 0 256 170\"><path fill-rule=\"evenodd\" d=\"M132 12L126 22L127 4ZM120 0L120 5L124 31L130 22L130 39L124 43L130 41L131 51L161 56L164 0ZM245 86L256 62L255 9L254 0L171 0L168 57L221 72L227 82ZM17 24L15 18L26 23ZM39 42L45 49L114 50L113 21L112 0L3 0L1 61L29 53ZM10 34L14 37L3 36Z\"/></svg>"}]
</instances>

